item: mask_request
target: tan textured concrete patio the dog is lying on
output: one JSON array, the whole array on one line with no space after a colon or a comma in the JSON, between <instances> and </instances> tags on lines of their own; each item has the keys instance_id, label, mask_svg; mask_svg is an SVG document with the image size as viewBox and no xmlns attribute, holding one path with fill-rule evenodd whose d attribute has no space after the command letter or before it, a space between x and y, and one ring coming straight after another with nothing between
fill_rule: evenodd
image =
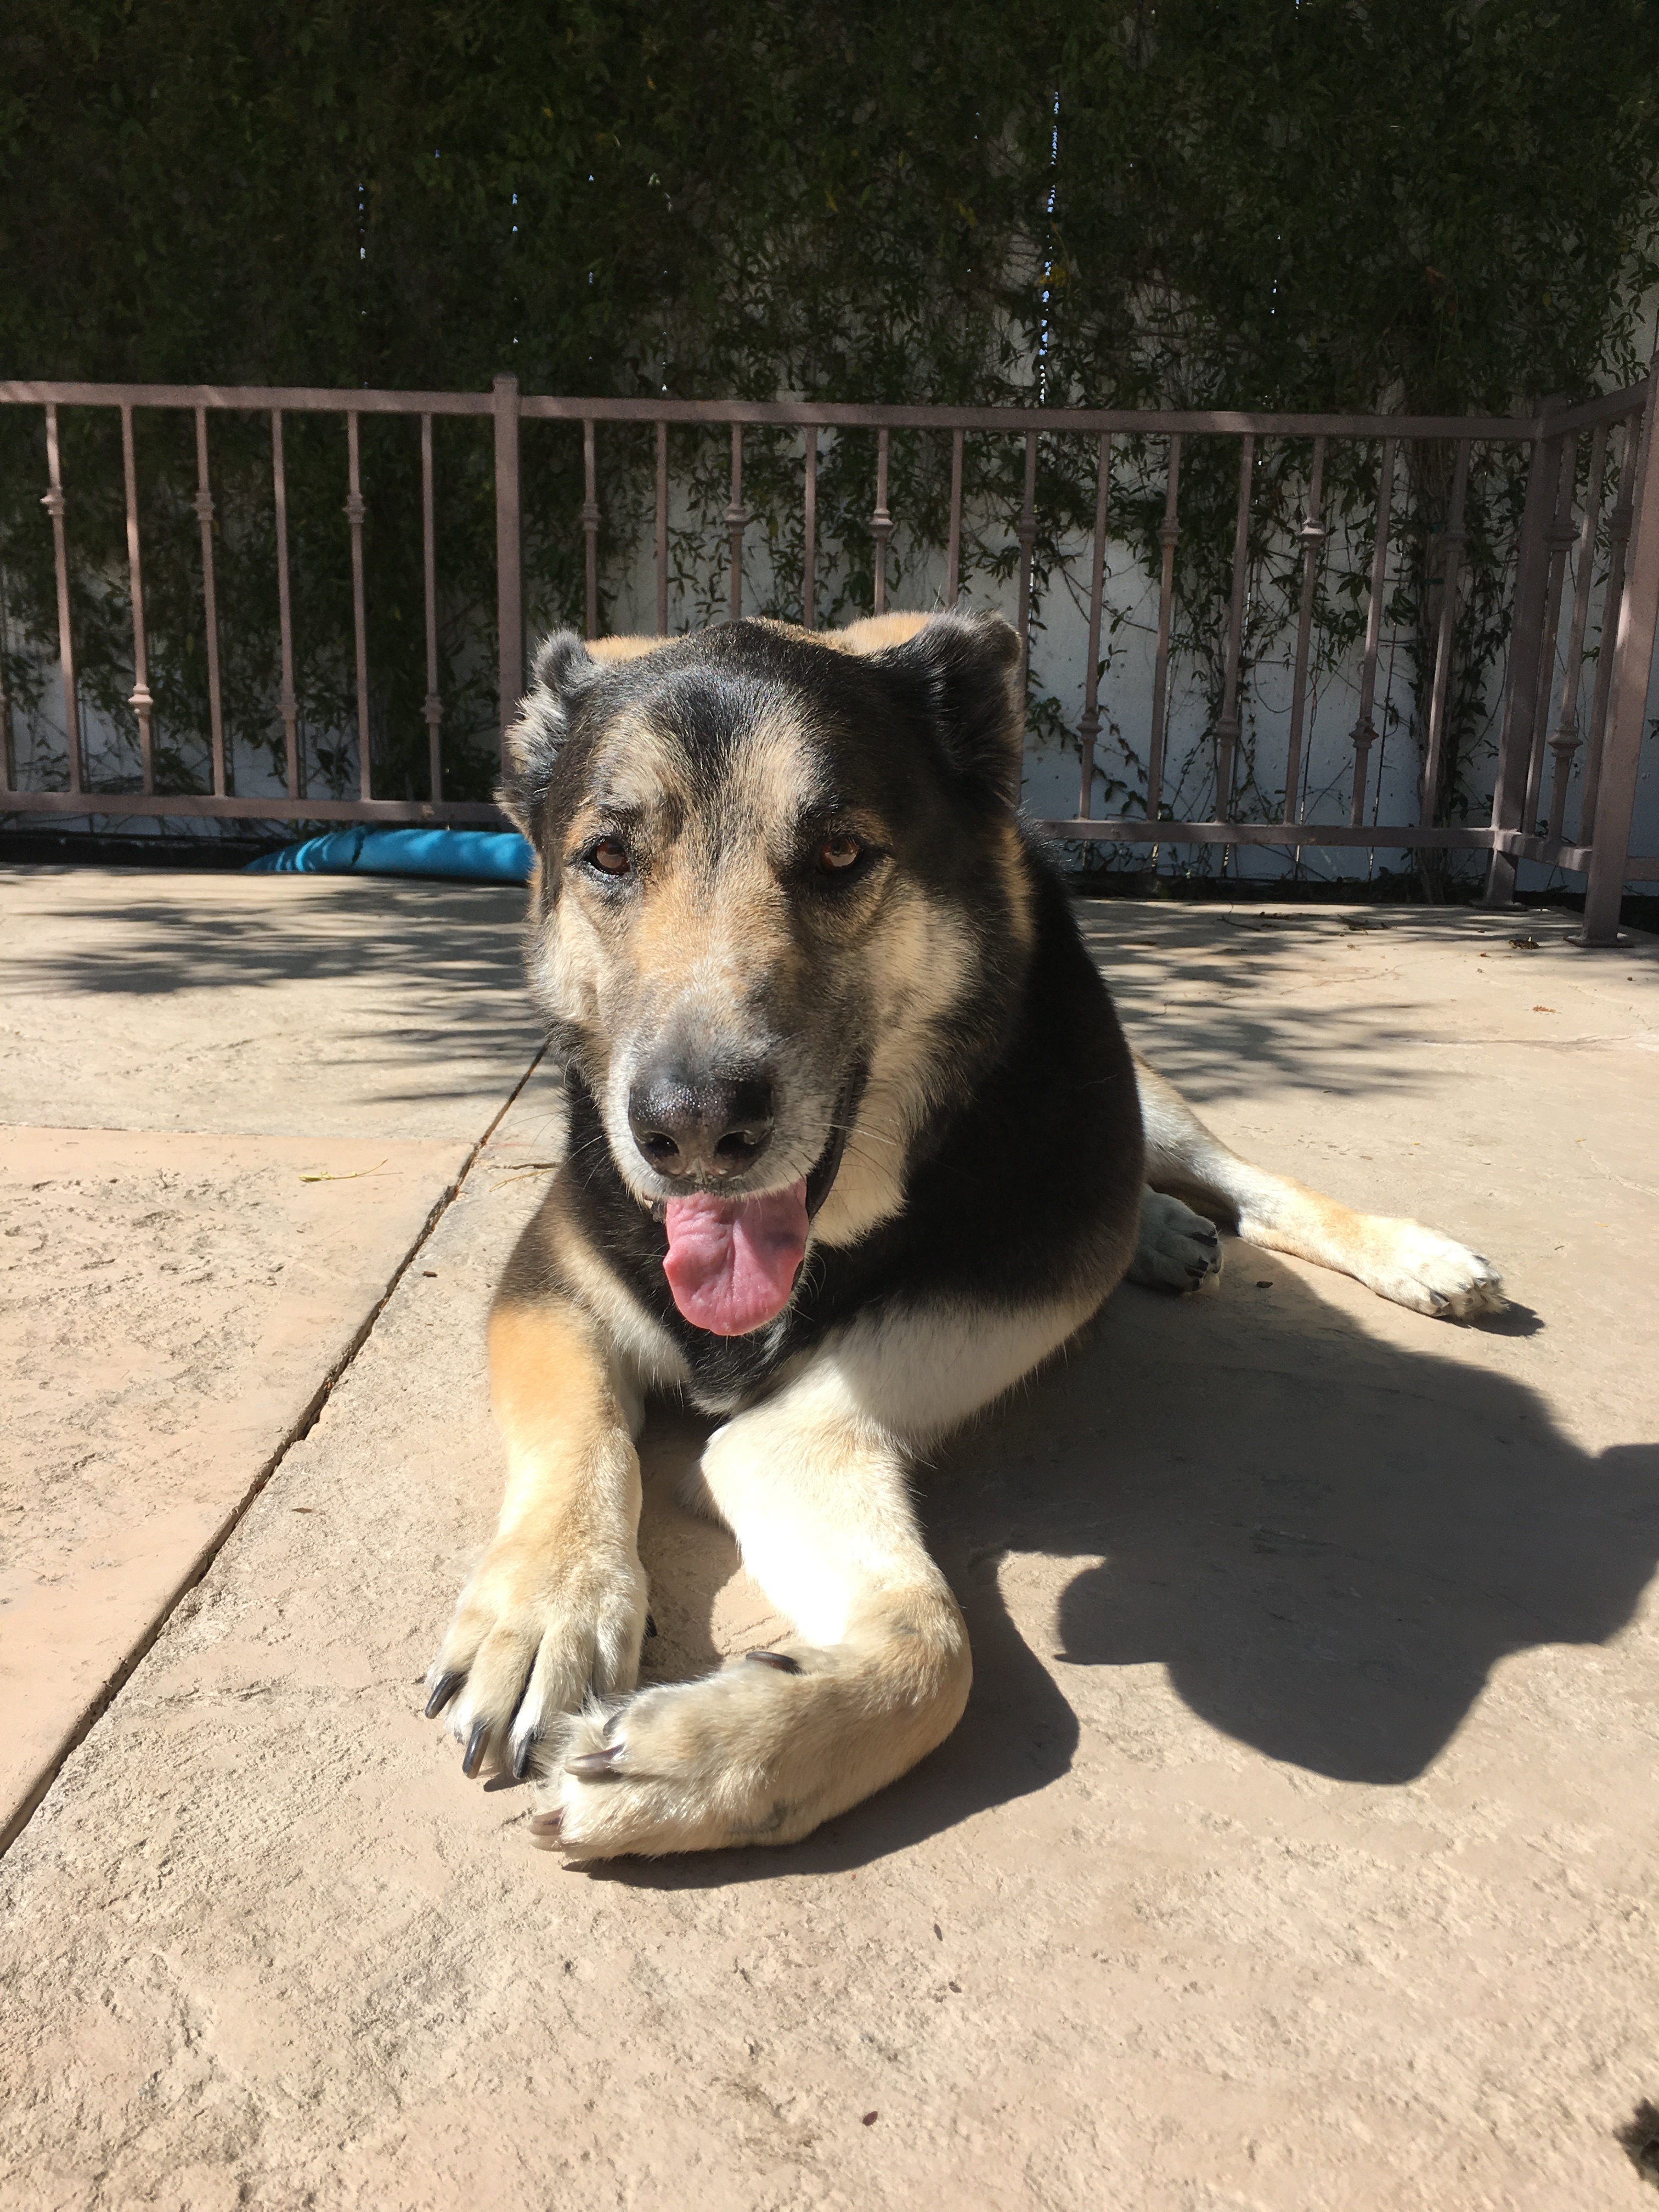
<instances>
[{"instance_id":1,"label":"tan textured concrete patio the dog is lying on","mask_svg":"<svg viewBox=\"0 0 1659 2212\"><path fill-rule=\"evenodd\" d=\"M945 1750L566 1871L418 1717L560 1144L520 907L0 876L0 2205L1639 2212L1659 942L1084 907L1221 1135L1513 1314L1237 1243L1121 1290L920 1480ZM653 1418L655 1674L770 1628L695 1449Z\"/></svg>"}]
</instances>

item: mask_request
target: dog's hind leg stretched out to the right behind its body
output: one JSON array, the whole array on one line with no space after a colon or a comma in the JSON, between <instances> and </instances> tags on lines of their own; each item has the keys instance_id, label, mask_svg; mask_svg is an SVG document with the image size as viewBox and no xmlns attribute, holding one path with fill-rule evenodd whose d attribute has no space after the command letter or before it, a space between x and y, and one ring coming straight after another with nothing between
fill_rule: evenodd
<instances>
[{"instance_id":1,"label":"dog's hind leg stretched out to the right behind its body","mask_svg":"<svg viewBox=\"0 0 1659 2212\"><path fill-rule=\"evenodd\" d=\"M1139 1053L1135 1079L1146 1124L1146 1181L1152 1192L1179 1192L1199 1206L1217 1206L1237 1219L1239 1234L1248 1243L1336 1267L1418 1314L1440 1314L1449 1321L1502 1314L1502 1279L1480 1252L1469 1252L1438 1230L1422 1228L1420 1221L1356 1214L1305 1183L1252 1168L1199 1121L1175 1084L1168 1084ZM1168 1281L1150 1265L1157 1254L1157 1214L1144 1212L1141 1252L1130 1267L1141 1283Z\"/></svg>"}]
</instances>

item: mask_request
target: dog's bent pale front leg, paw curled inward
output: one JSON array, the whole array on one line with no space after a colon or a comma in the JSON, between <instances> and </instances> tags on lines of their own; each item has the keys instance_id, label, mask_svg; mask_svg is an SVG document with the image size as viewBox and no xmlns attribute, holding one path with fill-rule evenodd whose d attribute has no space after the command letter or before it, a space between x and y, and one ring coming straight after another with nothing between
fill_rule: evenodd
<instances>
[{"instance_id":1,"label":"dog's bent pale front leg, paw curled inward","mask_svg":"<svg viewBox=\"0 0 1659 2212\"><path fill-rule=\"evenodd\" d=\"M971 1659L905 1447L1000 1396L1086 1312L860 1321L726 1422L703 1482L796 1635L584 1717L538 1840L571 1858L792 1843L942 1743Z\"/></svg>"}]
</instances>

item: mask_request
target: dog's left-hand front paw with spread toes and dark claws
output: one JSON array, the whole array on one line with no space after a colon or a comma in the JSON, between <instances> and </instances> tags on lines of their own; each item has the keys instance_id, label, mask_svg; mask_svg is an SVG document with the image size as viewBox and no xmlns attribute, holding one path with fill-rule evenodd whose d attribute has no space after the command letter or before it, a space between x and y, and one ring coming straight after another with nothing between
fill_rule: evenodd
<instances>
[{"instance_id":1,"label":"dog's left-hand front paw with spread toes and dark claws","mask_svg":"<svg viewBox=\"0 0 1659 2212\"><path fill-rule=\"evenodd\" d=\"M427 1674L427 1717L445 1714L465 1774L491 1763L524 1776L588 1701L633 1690L644 1632L637 1557L498 1537Z\"/></svg>"}]
</instances>

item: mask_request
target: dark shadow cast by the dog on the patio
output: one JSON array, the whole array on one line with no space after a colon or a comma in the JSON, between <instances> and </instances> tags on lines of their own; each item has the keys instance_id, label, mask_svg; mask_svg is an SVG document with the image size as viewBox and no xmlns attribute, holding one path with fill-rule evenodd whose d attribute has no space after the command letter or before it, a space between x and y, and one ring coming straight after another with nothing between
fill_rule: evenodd
<instances>
[{"instance_id":1,"label":"dark shadow cast by the dog on the patio","mask_svg":"<svg viewBox=\"0 0 1659 2212\"><path fill-rule=\"evenodd\" d=\"M1411 1349L1369 1336L1248 1248L1219 1298L1121 1290L918 1482L973 1637L956 1734L790 1849L593 1871L646 1887L830 1874L1042 1790L1079 1741L1051 1659L1157 1661L1197 1717L1270 1759L1413 1778L1504 1655L1599 1644L1632 1617L1659 1562L1659 1447L1588 1455L1524 1385L1460 1360L1447 1325L1411 1334ZM783 1628L730 1537L672 1502L697 1447L681 1416L648 1429L646 1679ZM1002 1579L1004 1562L1031 1579L1020 1555L1077 1571L1015 1621Z\"/></svg>"}]
</instances>

